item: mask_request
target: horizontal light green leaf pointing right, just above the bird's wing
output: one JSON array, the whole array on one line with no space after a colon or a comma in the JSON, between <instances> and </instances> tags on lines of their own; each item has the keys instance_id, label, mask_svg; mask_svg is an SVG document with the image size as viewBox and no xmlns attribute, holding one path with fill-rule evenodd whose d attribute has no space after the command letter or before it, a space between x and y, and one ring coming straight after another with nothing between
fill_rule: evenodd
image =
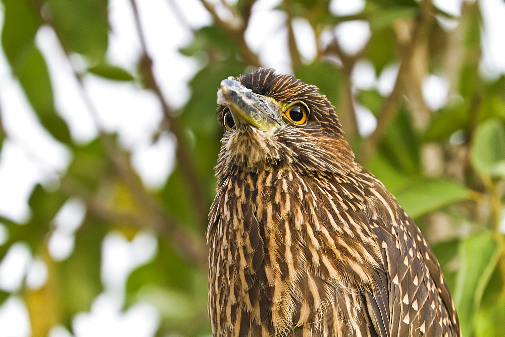
<instances>
[{"instance_id":1,"label":"horizontal light green leaf pointing right, just above the bird's wing","mask_svg":"<svg viewBox=\"0 0 505 337\"><path fill-rule=\"evenodd\" d=\"M395 196L412 218L450 203L470 198L471 191L455 182L442 179L412 179Z\"/></svg>"}]
</instances>

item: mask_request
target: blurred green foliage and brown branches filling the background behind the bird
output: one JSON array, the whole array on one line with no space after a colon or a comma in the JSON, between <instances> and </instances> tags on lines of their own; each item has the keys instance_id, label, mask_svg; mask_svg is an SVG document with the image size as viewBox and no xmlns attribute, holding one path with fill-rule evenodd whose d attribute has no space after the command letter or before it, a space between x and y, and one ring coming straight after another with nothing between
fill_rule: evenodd
<instances>
[{"instance_id":1,"label":"blurred green foliage and brown branches filling the background behind the bird","mask_svg":"<svg viewBox=\"0 0 505 337\"><path fill-rule=\"evenodd\" d=\"M168 1L177 8L176 2ZM189 82L189 100L175 109L156 82L144 45L133 74L108 61L107 0L0 2L2 48L12 76L41 126L72 154L68 169L56 181L33 188L26 223L0 217L8 232L0 257L23 242L47 266L47 281L38 289L25 283L16 294L0 289L0 301L10 295L24 299L33 335L47 335L55 324L71 330L75 314L89 311L104 291L100 261L106 235L121 233L132 240L143 231L156 233L158 249L151 261L129 275L124 309L137 301L155 305L160 336L210 333L204 232L222 133L213 112L216 88L222 79L262 65L244 39L254 3L200 0L213 24L186 27L193 37L180 53L194 59L199 70ZM137 14L134 0L129 5ZM293 73L330 98L357 160L384 182L425 233L452 290L464 335L504 335L505 245L500 221L505 214L505 77L487 78L479 70L479 2L464 2L461 17L444 13L429 0L369 0L361 13L348 16L331 14L329 1L291 0L277 10L286 14ZM299 18L314 31L314 60L305 60L298 51L292 23ZM362 50L349 55L333 28L352 20L368 22L371 37ZM447 21L456 24L447 28ZM131 24L145 38L142 22ZM146 188L129 150L100 125L97 138L88 144L72 137L55 107L52 77L35 43L42 26L56 33L69 61L78 54L87 64L71 74L83 96L87 93L81 79L87 76L134 82L139 90L154 92L164 116L160 133L170 134L177 143L175 167L163 187ZM171 32L164 33L171 38ZM351 74L358 62L368 62L378 76L399 66L392 91L381 94L375 87L354 86ZM430 109L422 95L430 74L449 84L448 100L437 110ZM370 135L359 132L356 104L370 109L377 119ZM92 106L86 108L95 114ZM156 142L159 134L152 136ZM0 123L0 146L5 139L9 133ZM58 260L47 245L55 216L70 199L81 201L86 211L74 233L72 253Z\"/></svg>"}]
</instances>

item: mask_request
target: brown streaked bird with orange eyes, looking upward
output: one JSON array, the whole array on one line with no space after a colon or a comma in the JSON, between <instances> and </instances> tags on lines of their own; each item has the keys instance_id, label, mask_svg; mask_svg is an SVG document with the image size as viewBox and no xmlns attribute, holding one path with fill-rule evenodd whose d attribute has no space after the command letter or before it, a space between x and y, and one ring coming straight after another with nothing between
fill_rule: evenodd
<instances>
[{"instance_id":1,"label":"brown streaked bird with orange eyes, looking upward","mask_svg":"<svg viewBox=\"0 0 505 337\"><path fill-rule=\"evenodd\" d=\"M316 86L258 68L217 96L215 336L461 335L432 249Z\"/></svg>"}]
</instances>

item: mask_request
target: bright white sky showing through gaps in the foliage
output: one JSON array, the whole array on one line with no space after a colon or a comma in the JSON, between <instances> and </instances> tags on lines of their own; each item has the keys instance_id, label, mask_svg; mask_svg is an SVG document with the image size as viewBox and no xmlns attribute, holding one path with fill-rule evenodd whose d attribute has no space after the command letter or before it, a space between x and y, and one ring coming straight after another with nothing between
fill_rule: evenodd
<instances>
[{"instance_id":1,"label":"bright white sky showing through gaps in the foliage","mask_svg":"<svg viewBox=\"0 0 505 337\"><path fill-rule=\"evenodd\" d=\"M439 8L453 15L460 15L463 0L434 0ZM213 3L219 3L214 0ZM209 24L211 18L198 0L177 0L184 20L193 28ZM279 72L291 72L287 57L287 32L283 27L284 16L273 10L278 0L259 0L254 5L250 26L245 40L260 55L262 63ZM170 2L150 0L138 2L139 12L147 36L147 45L153 56L157 80L170 104L180 107L189 97L187 82L198 70L193 59L178 53L178 48L191 39L191 32L180 24ZM361 11L363 0L332 0L330 9L338 15ZM505 3L501 0L481 1L484 16L482 70L489 76L505 73ZM226 16L226 11L220 12ZM108 58L111 63L134 71L139 54L137 33L128 0L110 0L112 32ZM0 13L0 26L3 13ZM315 57L314 34L305 19L294 22L294 31L300 54L305 61ZM167 38L167 32L170 32ZM335 29L347 53L359 50L369 38L368 24L363 21L348 22ZM268 36L268 39L265 39ZM70 65L63 57L54 32L42 28L37 33L37 45L48 63L55 91L58 111L70 126L71 134L79 142L87 142L96 136L97 128L116 131L121 143L132 150L132 162L144 182L153 188L163 185L170 172L174 146L170 136L164 135L156 144L150 144L149 135L159 124L162 115L159 102L152 93L131 83L116 83L86 76L84 84L98 111L94 120L82 103L76 83L69 73ZM170 60L170 61L167 61ZM73 59L78 65L83 61ZM375 79L373 69L360 63L353 77L358 88L378 87L383 94L390 92L397 71L387 68ZM0 104L3 123L12 136L4 143L0 153L0 214L16 221L29 216L27 197L35 183L47 183L56 172L66 169L69 152L55 142L38 125L19 84L11 77L10 68L0 50ZM167 76L170 74L170 76ZM230 74L235 75L235 74ZM181 85L182 84L182 85ZM430 108L442 106L447 97L447 83L439 76L430 75L423 84L423 93ZM360 132L369 134L375 127L370 111L358 106ZM69 201L55 221L56 231L49 239L49 251L56 259L66 258L73 249L74 232L80 226L83 205L78 200ZM0 225L0 243L5 229ZM109 235L103 244L103 282L106 292L100 295L90 312L80 313L74 319L77 336L150 336L158 326L158 313L147 303L138 303L126 313L121 313L122 292L127 274L137 265L145 263L156 252L153 235L138 235L132 242L119 235ZM33 260L23 244L11 248L0 263L0 288L15 290L28 274L28 284L34 288L44 283L47 270L40 260ZM11 297L0 307L0 337L28 336L28 316L22 301ZM52 337L69 335L63 327L55 327Z\"/></svg>"}]
</instances>

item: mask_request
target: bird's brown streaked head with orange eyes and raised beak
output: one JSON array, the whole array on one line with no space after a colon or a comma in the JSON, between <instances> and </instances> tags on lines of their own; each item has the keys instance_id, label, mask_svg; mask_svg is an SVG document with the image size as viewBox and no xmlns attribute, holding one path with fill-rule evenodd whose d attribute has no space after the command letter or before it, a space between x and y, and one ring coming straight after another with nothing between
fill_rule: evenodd
<instances>
[{"instance_id":1,"label":"bird's brown streaked head with orange eyes and raised beak","mask_svg":"<svg viewBox=\"0 0 505 337\"><path fill-rule=\"evenodd\" d=\"M334 107L314 85L258 68L223 80L218 104L225 131L218 168L225 172L345 174L355 167Z\"/></svg>"}]
</instances>

